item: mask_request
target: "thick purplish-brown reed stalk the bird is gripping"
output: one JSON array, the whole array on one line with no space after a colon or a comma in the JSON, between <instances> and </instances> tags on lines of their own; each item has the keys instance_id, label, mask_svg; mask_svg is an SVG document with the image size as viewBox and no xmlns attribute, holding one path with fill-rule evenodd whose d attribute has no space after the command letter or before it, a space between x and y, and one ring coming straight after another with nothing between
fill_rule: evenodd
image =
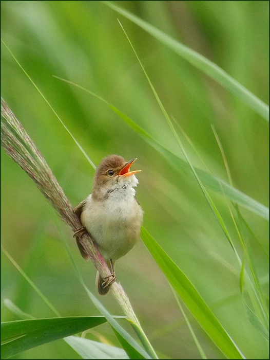
<instances>
[{"instance_id":1,"label":"thick purplish-brown reed stalk the bird is gripping","mask_svg":"<svg viewBox=\"0 0 270 360\"><path fill-rule=\"evenodd\" d=\"M57 183L46 160L40 151L38 151L23 128L23 125L16 119L3 98L1 98L1 128L1 146L8 156L10 156L15 163L31 177L38 189L40 189L51 206L59 213L61 219L71 228L71 230L74 232L79 229L82 224L76 216L64 191ZM77 237L101 276L103 278L109 276L111 273L110 269L89 234L78 233ZM136 324L141 335L140 339L146 351L153 358L157 358L155 350L153 350L149 340L143 332L140 322L131 307L123 287L119 283L114 282L110 286L110 289L112 295L118 301L122 310L128 317L128 320L132 324Z\"/></svg>"}]
</instances>

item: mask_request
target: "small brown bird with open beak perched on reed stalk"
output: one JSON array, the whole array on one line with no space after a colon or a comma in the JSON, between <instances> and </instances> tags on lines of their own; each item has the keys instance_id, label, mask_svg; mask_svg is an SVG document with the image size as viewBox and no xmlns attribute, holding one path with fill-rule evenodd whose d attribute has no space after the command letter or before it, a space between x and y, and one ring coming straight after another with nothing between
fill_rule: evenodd
<instances>
[{"instance_id":1,"label":"small brown bird with open beak perched on reed stalk","mask_svg":"<svg viewBox=\"0 0 270 360\"><path fill-rule=\"evenodd\" d=\"M103 158L95 170L92 193L74 208L83 225L74 236L86 230L111 268L112 275L107 279L97 273L96 285L101 295L107 294L115 281L115 260L126 255L140 238L143 210L135 197L138 179L134 174L141 170L129 171L135 160L127 163L118 155Z\"/></svg>"}]
</instances>

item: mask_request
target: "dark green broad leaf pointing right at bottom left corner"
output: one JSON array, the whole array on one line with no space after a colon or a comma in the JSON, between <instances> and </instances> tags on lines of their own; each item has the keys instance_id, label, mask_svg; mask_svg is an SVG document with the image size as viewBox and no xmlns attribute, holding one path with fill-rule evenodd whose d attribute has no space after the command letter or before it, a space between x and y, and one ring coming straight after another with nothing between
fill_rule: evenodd
<instances>
[{"instance_id":1,"label":"dark green broad leaf pointing right at bottom left corner","mask_svg":"<svg viewBox=\"0 0 270 360\"><path fill-rule=\"evenodd\" d=\"M78 334L106 321L104 316L78 316L2 322L2 358L8 358L38 345Z\"/></svg>"}]
</instances>

